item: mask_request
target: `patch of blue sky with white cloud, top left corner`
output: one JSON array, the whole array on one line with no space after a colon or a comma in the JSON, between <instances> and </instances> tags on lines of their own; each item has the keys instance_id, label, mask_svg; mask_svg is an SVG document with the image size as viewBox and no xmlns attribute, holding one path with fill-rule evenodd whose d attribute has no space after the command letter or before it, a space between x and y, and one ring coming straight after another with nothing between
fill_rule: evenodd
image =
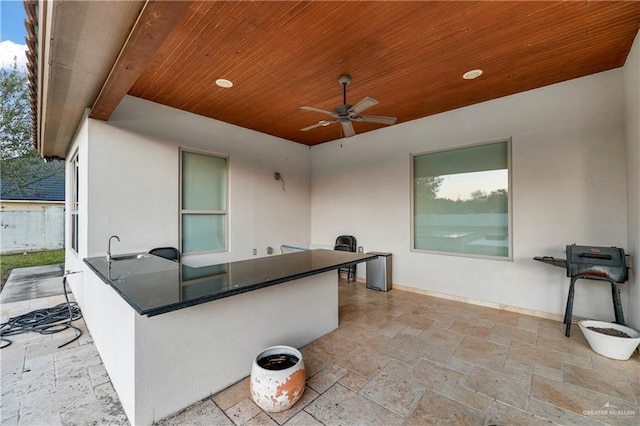
<instances>
[{"instance_id":1,"label":"patch of blue sky with white cloud, top left corner","mask_svg":"<svg viewBox=\"0 0 640 426\"><path fill-rule=\"evenodd\" d=\"M0 0L0 66L12 65L14 57L18 58L19 66L26 62L26 18L21 0Z\"/></svg>"}]
</instances>

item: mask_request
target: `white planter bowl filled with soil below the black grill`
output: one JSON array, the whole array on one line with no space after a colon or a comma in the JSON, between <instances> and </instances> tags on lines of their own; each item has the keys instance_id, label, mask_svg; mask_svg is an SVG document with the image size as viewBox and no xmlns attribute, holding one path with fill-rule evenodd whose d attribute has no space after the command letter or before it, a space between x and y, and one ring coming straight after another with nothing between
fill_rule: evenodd
<instances>
[{"instance_id":1,"label":"white planter bowl filled with soil below the black grill","mask_svg":"<svg viewBox=\"0 0 640 426\"><path fill-rule=\"evenodd\" d=\"M580 321L578 322L578 325L582 330L582 334L584 334L584 337L587 339L587 342L589 342L591 349L602 356L606 356L607 358L623 361L627 360L640 344L640 333L632 328L625 327L624 325L591 320ZM607 334L589 330L587 327L613 328L627 333L631 338L609 336Z\"/></svg>"}]
</instances>

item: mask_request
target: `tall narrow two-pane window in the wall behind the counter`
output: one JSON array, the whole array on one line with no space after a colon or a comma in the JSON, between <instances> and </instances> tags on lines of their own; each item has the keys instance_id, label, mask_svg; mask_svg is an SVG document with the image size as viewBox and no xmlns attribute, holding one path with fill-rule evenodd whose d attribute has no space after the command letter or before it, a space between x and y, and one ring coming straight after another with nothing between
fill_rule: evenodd
<instances>
[{"instance_id":1,"label":"tall narrow two-pane window in the wall behind the counter","mask_svg":"<svg viewBox=\"0 0 640 426\"><path fill-rule=\"evenodd\" d=\"M227 159L181 151L182 252L226 250Z\"/></svg>"}]
</instances>

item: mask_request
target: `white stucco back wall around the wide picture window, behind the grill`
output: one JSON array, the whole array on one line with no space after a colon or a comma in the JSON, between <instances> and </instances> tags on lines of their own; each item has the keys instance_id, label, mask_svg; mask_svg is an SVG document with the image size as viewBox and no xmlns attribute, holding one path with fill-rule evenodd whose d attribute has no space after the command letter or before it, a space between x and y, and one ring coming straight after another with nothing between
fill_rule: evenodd
<instances>
[{"instance_id":1,"label":"white stucco back wall around the wide picture window, behind the grill","mask_svg":"<svg viewBox=\"0 0 640 426\"><path fill-rule=\"evenodd\" d=\"M353 234L393 253L396 284L561 314L565 271L532 257L626 247L623 96L617 69L314 146L312 244ZM509 137L513 261L411 252L410 154ZM622 298L627 312L626 288ZM608 285L580 281L574 314L613 319Z\"/></svg>"}]
</instances>

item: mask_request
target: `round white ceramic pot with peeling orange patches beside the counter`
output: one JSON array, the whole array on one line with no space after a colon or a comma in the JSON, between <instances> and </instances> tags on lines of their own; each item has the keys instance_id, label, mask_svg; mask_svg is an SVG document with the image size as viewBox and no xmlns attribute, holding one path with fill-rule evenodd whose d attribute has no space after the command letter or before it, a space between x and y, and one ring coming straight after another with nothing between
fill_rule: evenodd
<instances>
[{"instance_id":1,"label":"round white ceramic pot with peeling orange patches beside the counter","mask_svg":"<svg viewBox=\"0 0 640 426\"><path fill-rule=\"evenodd\" d=\"M251 367L251 398L270 413L287 410L304 393L306 374L302 354L290 346L260 352Z\"/></svg>"}]
</instances>

